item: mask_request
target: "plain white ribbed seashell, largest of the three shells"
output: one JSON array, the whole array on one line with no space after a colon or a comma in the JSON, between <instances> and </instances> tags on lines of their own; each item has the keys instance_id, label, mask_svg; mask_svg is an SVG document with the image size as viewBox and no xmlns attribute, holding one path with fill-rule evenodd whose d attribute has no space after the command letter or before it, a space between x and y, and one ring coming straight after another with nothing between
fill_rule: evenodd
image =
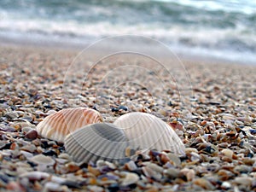
<instances>
[{"instance_id":1,"label":"plain white ribbed seashell, largest of the three shells","mask_svg":"<svg viewBox=\"0 0 256 192\"><path fill-rule=\"evenodd\" d=\"M142 152L156 149L185 154L185 146L172 127L152 114L126 113L116 119L113 125L125 131L131 148L141 149Z\"/></svg>"}]
</instances>

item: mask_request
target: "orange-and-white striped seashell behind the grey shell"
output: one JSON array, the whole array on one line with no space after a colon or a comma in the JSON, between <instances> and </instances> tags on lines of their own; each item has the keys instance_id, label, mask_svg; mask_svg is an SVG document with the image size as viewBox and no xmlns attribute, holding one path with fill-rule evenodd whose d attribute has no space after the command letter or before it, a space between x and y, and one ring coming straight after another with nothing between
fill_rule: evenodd
<instances>
[{"instance_id":1,"label":"orange-and-white striped seashell behind the grey shell","mask_svg":"<svg viewBox=\"0 0 256 192\"><path fill-rule=\"evenodd\" d=\"M91 108L66 108L41 121L36 130L42 137L63 143L65 137L84 125L102 122L102 115Z\"/></svg>"}]
</instances>

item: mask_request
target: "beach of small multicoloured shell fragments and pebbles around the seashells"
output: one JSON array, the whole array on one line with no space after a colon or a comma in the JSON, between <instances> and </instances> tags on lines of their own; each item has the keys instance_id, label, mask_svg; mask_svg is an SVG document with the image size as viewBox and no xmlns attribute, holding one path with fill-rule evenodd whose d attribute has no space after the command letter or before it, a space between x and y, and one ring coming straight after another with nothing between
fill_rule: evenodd
<instances>
[{"instance_id":1,"label":"beach of small multicoloured shell fragments and pebbles around the seashells","mask_svg":"<svg viewBox=\"0 0 256 192\"><path fill-rule=\"evenodd\" d=\"M256 191L255 65L187 59L184 76L170 63L177 82L189 78L183 91L187 86L172 84L163 68L143 59L106 78L125 66L125 55L91 67L96 54L69 75L78 49L0 47L1 191ZM155 77L164 82L157 89ZM125 113L151 113L176 131L185 154L166 148L77 163L63 143L40 137L35 127L51 113L78 107L97 110L108 123Z\"/></svg>"}]
</instances>

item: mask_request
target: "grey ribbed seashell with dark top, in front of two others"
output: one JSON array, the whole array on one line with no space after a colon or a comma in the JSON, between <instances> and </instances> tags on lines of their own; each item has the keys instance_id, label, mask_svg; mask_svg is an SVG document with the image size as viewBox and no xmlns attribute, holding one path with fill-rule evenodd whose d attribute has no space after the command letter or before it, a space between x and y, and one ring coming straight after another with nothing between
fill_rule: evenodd
<instances>
[{"instance_id":1,"label":"grey ribbed seashell with dark top, in front of two others","mask_svg":"<svg viewBox=\"0 0 256 192\"><path fill-rule=\"evenodd\" d=\"M107 123L84 126L68 135L64 142L67 154L79 163L124 159L127 144L124 131Z\"/></svg>"}]
</instances>

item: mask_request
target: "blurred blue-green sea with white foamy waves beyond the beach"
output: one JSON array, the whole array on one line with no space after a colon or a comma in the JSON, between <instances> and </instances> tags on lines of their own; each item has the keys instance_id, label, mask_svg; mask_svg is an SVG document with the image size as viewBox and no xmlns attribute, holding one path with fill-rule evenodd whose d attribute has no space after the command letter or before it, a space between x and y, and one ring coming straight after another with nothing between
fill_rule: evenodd
<instances>
[{"instance_id":1,"label":"blurred blue-green sea with white foamy waves beyond the beach","mask_svg":"<svg viewBox=\"0 0 256 192\"><path fill-rule=\"evenodd\" d=\"M1 0L0 39L84 46L154 38L177 54L256 63L254 0Z\"/></svg>"}]
</instances>

